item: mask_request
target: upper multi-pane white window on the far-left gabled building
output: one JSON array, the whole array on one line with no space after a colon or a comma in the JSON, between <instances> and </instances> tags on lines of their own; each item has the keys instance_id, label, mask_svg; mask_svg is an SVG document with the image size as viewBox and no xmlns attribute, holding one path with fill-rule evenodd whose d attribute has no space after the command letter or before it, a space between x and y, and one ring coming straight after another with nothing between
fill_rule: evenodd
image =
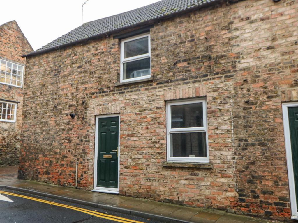
<instances>
[{"instance_id":1,"label":"upper multi-pane white window on the far-left gabled building","mask_svg":"<svg viewBox=\"0 0 298 223\"><path fill-rule=\"evenodd\" d=\"M0 83L22 87L24 66L0 59Z\"/></svg>"}]
</instances>

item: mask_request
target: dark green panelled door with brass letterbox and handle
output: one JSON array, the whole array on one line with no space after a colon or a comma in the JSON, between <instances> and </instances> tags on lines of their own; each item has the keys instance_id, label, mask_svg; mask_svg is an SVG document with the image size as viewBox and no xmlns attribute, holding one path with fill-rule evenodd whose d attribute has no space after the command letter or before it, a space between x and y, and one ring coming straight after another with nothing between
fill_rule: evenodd
<instances>
[{"instance_id":1,"label":"dark green panelled door with brass letterbox and handle","mask_svg":"<svg viewBox=\"0 0 298 223\"><path fill-rule=\"evenodd\" d=\"M97 186L118 187L119 117L99 118Z\"/></svg>"}]
</instances>

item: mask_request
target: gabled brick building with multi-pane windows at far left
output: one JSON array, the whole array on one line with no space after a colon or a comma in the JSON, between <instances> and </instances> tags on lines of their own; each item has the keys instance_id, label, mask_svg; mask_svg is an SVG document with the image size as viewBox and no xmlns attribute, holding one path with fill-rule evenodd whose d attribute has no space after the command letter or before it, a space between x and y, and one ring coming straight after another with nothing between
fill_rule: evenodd
<instances>
[{"instance_id":1,"label":"gabled brick building with multi-pane windows at far left","mask_svg":"<svg viewBox=\"0 0 298 223\"><path fill-rule=\"evenodd\" d=\"M18 164L25 58L32 47L18 23L0 26L0 166Z\"/></svg>"}]
</instances>

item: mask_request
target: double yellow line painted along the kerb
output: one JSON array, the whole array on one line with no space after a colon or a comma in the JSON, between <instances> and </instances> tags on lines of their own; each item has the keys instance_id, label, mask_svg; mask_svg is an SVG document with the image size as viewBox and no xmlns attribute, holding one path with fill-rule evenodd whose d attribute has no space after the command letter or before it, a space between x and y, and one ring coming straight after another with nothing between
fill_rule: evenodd
<instances>
[{"instance_id":1,"label":"double yellow line painted along the kerb","mask_svg":"<svg viewBox=\"0 0 298 223\"><path fill-rule=\"evenodd\" d=\"M116 221L116 222L144 223L144 222L139 222L139 221L135 221L135 220L127 219L127 218L121 218L121 217L118 217L118 216L113 216L113 215L109 215L109 214L105 214L105 213L100 213L100 212L97 212L97 211L91 211L91 210L84 209L84 208L77 208L77 207L70 206L70 205L59 204L59 203L56 203L56 202L42 200L42 199L33 198L33 197L28 197L28 196L24 196L24 195L20 195L20 194L14 194L14 193L6 192L6 191L0 191L0 194L7 194L7 195L15 196L15 197L22 197L22 198L25 198L25 199L34 200L34 201L38 201L38 202L41 202L41 203L55 205L55 206L59 206L59 207L63 207L63 208L69 208L69 209L72 209L72 210L75 210L75 211L80 211L80 212L90 214L90 215L93 215L93 216L96 216L96 217L99 217L99 218L104 218L104 219L108 219L108 220L112 220L112 221Z\"/></svg>"}]
</instances>

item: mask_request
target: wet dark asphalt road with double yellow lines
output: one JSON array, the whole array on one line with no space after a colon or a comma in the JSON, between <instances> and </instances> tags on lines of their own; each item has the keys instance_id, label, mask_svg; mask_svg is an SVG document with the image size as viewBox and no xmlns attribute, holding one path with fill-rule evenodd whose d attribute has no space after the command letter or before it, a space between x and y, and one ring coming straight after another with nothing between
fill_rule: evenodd
<instances>
[{"instance_id":1,"label":"wet dark asphalt road with double yellow lines","mask_svg":"<svg viewBox=\"0 0 298 223\"><path fill-rule=\"evenodd\" d=\"M1 189L3 192L13 193L21 196L27 196L35 200L30 200L24 197L17 197L11 194L0 194L0 222L1 223L98 223L98 222L122 222L122 223L159 223L149 219L143 219L127 214L116 213L113 211L106 211L103 209L93 209L84 205L77 205L74 203L64 202L60 200L50 199L32 194L26 194L7 189ZM4 197L3 197L4 196ZM13 202L7 201L8 199ZM39 200L40 199L40 200ZM46 202L46 203L44 203ZM55 202L55 203L51 203ZM69 205L71 207L66 208ZM74 208L76 210L73 210ZM80 209L79 209L80 208ZM87 209L87 210L83 210ZM96 212L88 212L96 211ZM88 212L88 213L84 213ZM99 212L99 213L97 213ZM102 215L101 213L104 213ZM94 216L95 215L95 216ZM116 217L115 217L116 216ZM114 218L115 217L115 218ZM122 217L125 219L116 219ZM112 218L114 220L110 220Z\"/></svg>"}]
</instances>

